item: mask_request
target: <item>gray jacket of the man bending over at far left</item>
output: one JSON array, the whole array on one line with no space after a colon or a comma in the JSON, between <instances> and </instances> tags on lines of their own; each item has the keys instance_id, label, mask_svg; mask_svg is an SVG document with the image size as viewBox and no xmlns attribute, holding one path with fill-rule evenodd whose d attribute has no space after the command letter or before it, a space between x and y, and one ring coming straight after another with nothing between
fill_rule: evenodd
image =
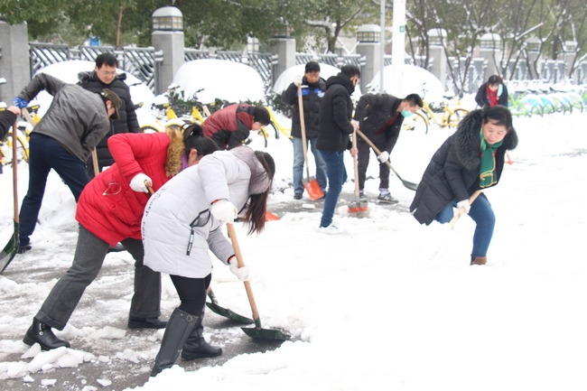
<instances>
[{"instance_id":1,"label":"gray jacket of the man bending over at far left","mask_svg":"<svg viewBox=\"0 0 587 391\"><path fill-rule=\"evenodd\" d=\"M51 137L86 163L94 147L110 129L104 100L99 94L64 83L46 73L36 75L18 97L29 102L43 89L54 98L41 122L34 126L33 133Z\"/></svg>"}]
</instances>

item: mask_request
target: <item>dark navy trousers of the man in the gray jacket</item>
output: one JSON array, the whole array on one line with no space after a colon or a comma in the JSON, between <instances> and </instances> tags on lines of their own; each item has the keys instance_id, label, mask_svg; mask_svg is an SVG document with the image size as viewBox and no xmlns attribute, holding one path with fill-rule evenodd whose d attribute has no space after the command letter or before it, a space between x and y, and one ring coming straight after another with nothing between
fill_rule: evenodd
<instances>
[{"instance_id":1,"label":"dark navy trousers of the man in the gray jacket","mask_svg":"<svg viewBox=\"0 0 587 391\"><path fill-rule=\"evenodd\" d=\"M29 150L31 152L29 190L24 196L19 216L21 247L31 242L30 236L33 234L39 218L42 197L45 194L47 177L51 169L55 170L61 176L61 180L69 186L76 201L79 200L79 194L89 182L84 163L51 137L33 132L29 142Z\"/></svg>"}]
</instances>

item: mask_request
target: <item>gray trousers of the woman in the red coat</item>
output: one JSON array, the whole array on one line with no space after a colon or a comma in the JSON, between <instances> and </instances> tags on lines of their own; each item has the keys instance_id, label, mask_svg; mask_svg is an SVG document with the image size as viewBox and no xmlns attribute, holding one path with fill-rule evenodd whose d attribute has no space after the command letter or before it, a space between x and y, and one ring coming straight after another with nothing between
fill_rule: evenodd
<instances>
[{"instance_id":1,"label":"gray trousers of the woman in the red coat","mask_svg":"<svg viewBox=\"0 0 587 391\"><path fill-rule=\"evenodd\" d=\"M143 265L143 242L126 238L120 242L135 258L135 294L131 301L133 318L161 315L161 274ZM35 318L51 328L63 330L89 284L98 275L109 245L88 229L79 226L78 245L73 264L53 286Z\"/></svg>"}]
</instances>

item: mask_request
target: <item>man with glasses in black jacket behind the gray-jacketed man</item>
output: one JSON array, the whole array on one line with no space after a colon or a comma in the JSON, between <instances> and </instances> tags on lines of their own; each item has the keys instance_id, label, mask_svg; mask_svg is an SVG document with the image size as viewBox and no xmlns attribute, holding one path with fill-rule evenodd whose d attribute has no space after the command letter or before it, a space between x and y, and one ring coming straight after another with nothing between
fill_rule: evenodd
<instances>
[{"instance_id":1,"label":"man with glasses in black jacket behind the gray-jacketed man","mask_svg":"<svg viewBox=\"0 0 587 391\"><path fill-rule=\"evenodd\" d=\"M99 92L108 88L122 100L122 107L119 110L120 119L112 121L110 131L100 140L96 146L98 153L98 167L100 172L104 167L114 163L112 154L108 151L108 138L118 133L141 133L141 127L138 125L135 113L135 105L130 97L130 89L125 83L126 73L116 75L118 60L112 53L105 52L96 58L96 67L92 72L79 72L78 84L92 92ZM89 178L93 178L94 164L91 159L87 162Z\"/></svg>"}]
</instances>

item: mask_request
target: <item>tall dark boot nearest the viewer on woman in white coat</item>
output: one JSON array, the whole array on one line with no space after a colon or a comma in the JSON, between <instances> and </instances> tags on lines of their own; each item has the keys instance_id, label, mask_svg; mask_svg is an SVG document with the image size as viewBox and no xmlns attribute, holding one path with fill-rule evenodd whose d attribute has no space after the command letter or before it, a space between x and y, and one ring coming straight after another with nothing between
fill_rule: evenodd
<instances>
[{"instance_id":1,"label":"tall dark boot nearest the viewer on woman in white coat","mask_svg":"<svg viewBox=\"0 0 587 391\"><path fill-rule=\"evenodd\" d=\"M167 321L167 327L163 334L161 348L155 358L155 364L151 371L151 377L159 375L163 369L172 368L175 360L180 356L185 341L191 335L193 329L200 321L199 316L190 315L176 308Z\"/></svg>"}]
</instances>

